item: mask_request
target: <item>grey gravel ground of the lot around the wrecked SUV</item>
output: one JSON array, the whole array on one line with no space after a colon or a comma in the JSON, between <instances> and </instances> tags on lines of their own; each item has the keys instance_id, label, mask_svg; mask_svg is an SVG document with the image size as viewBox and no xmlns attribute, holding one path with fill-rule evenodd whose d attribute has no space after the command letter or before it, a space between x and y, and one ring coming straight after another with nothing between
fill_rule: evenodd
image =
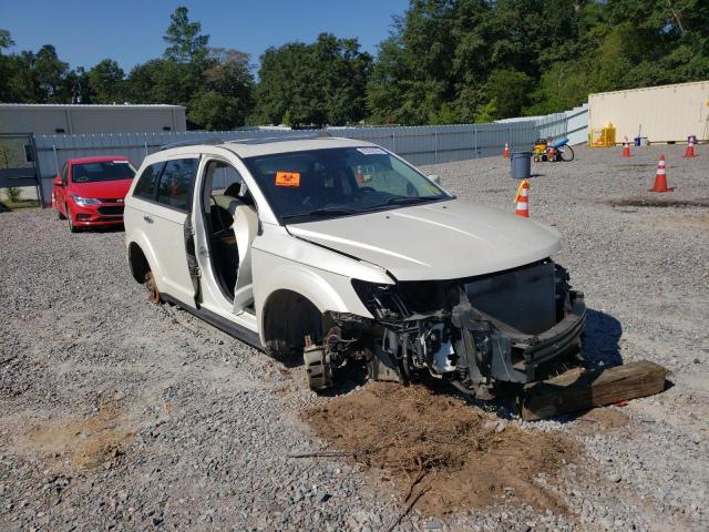
<instances>
[{"instance_id":1,"label":"grey gravel ground of the lot around the wrecked SUV","mask_svg":"<svg viewBox=\"0 0 709 532\"><path fill-rule=\"evenodd\" d=\"M532 217L563 234L558 262L586 293L590 364L653 360L672 386L595 417L505 421L583 444L538 478L568 513L414 511L398 530L709 530L709 146L682 150L579 149L531 180ZM660 152L671 194L646 192ZM502 157L425 171L513 208ZM122 232L71 235L25 209L0 214L0 530L374 531L400 515L363 467L285 457L322 447L299 415L332 399L307 391L299 368L147 304Z\"/></svg>"}]
</instances>

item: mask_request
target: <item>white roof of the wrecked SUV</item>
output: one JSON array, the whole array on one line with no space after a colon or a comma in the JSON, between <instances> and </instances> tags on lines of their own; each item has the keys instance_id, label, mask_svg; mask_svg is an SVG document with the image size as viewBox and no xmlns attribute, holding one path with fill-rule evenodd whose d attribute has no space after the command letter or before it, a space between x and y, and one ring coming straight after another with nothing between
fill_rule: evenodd
<instances>
[{"instance_id":1,"label":"white roof of the wrecked SUV","mask_svg":"<svg viewBox=\"0 0 709 532\"><path fill-rule=\"evenodd\" d=\"M177 155L181 153L199 152L201 146L224 147L234 152L242 158L254 157L259 155L270 155L275 153L304 152L307 150L327 150L331 147L361 147L376 146L371 142L360 141L357 139L340 139L330 136L318 137L270 137L270 139L244 139L230 142L213 142L213 143L194 143L181 145L178 147L167 147L163 152L164 155Z\"/></svg>"}]
</instances>

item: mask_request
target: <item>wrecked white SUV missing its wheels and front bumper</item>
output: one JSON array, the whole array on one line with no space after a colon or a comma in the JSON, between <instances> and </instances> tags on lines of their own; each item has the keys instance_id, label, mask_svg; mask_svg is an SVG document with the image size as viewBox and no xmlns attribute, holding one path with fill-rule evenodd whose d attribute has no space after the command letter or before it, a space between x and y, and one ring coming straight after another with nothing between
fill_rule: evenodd
<instances>
[{"instance_id":1,"label":"wrecked white SUV missing its wheels and front bumper","mask_svg":"<svg viewBox=\"0 0 709 532\"><path fill-rule=\"evenodd\" d=\"M361 364L484 397L577 359L585 305L549 258L559 235L435 181L357 140L166 149L125 198L129 264L153 301L302 356L312 389Z\"/></svg>"}]
</instances>

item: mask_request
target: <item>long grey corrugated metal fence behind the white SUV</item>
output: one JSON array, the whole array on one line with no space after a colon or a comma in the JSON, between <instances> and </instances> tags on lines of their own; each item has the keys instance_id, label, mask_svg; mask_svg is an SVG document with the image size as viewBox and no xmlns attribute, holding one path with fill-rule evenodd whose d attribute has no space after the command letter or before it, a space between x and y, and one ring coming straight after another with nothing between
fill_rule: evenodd
<instances>
[{"instance_id":1,"label":"long grey corrugated metal fence behind the white SUV","mask_svg":"<svg viewBox=\"0 0 709 532\"><path fill-rule=\"evenodd\" d=\"M578 117L577 117L578 116ZM585 111L587 122L587 110ZM584 111L572 116L583 129ZM493 124L455 124L383 127L329 127L333 136L360 139L390 150L414 165L446 163L469 158L496 156L505 143L511 151L528 151L538 137L563 139L568 132L567 114L559 113L541 119L506 121ZM208 140L236 141L282 136L311 136L312 130L185 131L163 133L116 133L93 135L39 135L35 137L39 168L44 191L51 194L51 180L65 161L92 155L122 155L136 165L143 158L167 144L204 142ZM585 130L583 130L585 134Z\"/></svg>"}]
</instances>

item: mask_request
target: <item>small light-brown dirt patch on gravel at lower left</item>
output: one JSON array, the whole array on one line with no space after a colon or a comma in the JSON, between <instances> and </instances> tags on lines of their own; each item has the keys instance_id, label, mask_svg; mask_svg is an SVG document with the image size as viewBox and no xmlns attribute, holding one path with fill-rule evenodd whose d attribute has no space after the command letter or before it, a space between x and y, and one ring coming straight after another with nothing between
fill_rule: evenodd
<instances>
[{"instance_id":1,"label":"small light-brown dirt patch on gravel at lower left","mask_svg":"<svg viewBox=\"0 0 709 532\"><path fill-rule=\"evenodd\" d=\"M134 431L115 405L103 407L85 419L51 420L30 428L23 436L25 450L53 458L69 458L83 470L103 466L125 452Z\"/></svg>"}]
</instances>

